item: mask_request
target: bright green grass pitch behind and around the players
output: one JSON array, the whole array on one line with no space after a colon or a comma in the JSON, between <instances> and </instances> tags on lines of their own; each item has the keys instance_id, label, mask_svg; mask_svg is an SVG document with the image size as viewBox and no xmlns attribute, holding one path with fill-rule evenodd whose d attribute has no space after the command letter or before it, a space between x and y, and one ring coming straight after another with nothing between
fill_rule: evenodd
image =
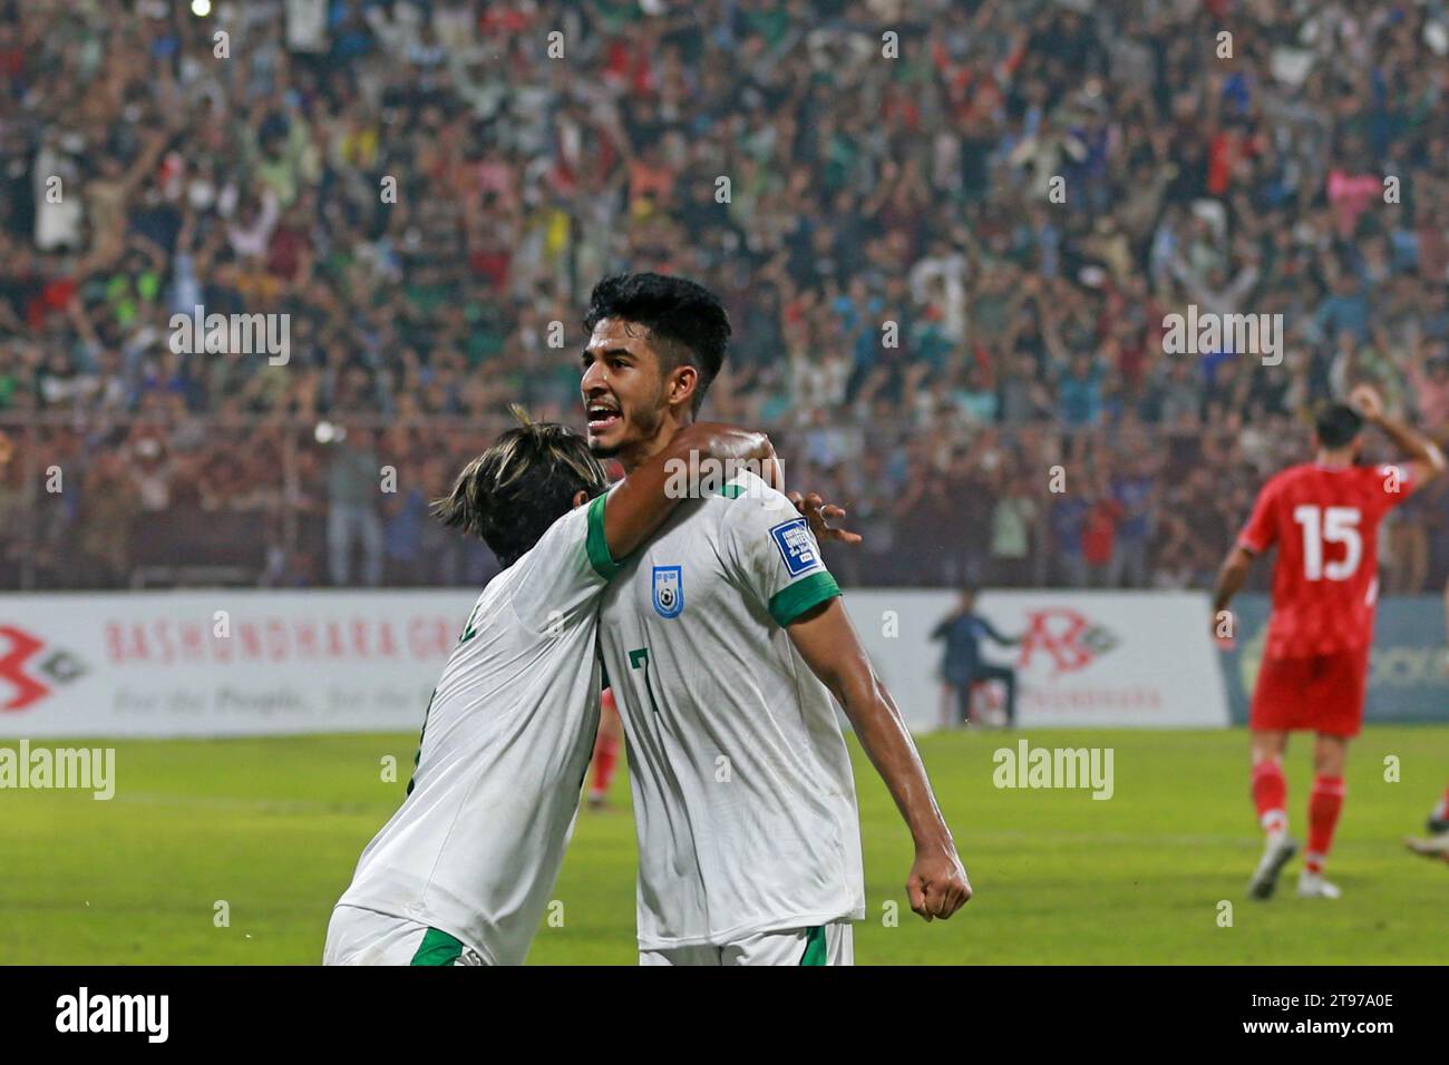
<instances>
[{"instance_id":1,"label":"bright green grass pitch behind and around the players","mask_svg":"<svg viewBox=\"0 0 1449 1065\"><path fill-rule=\"evenodd\" d=\"M993 752L1022 736L1033 746L1113 748L1116 794L997 790ZM316 964L358 853L403 797L414 743L413 735L128 740L116 743L110 801L0 791L0 962ZM1449 727L1368 729L1350 752L1329 868L1343 898L1295 898L1295 862L1266 904L1243 895L1259 836L1240 729L977 732L919 743L977 897L946 923L910 913L909 836L852 743L867 874L858 964L1449 958L1449 865L1403 846L1449 777ZM1308 748L1295 738L1288 756L1300 839ZM398 781L381 780L385 755ZM1398 782L1385 781L1390 755ZM611 798L613 810L580 814L554 891L562 923L539 930L530 964L636 961L623 772ZM1232 927L1220 926L1223 900ZM220 927L219 901L229 909Z\"/></svg>"}]
</instances>

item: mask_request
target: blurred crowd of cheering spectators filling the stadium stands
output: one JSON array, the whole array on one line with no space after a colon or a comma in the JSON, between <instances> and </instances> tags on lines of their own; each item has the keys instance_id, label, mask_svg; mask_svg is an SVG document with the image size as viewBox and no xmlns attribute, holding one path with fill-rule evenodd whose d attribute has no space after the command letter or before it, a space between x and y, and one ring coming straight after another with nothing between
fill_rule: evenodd
<instances>
[{"instance_id":1,"label":"blurred crowd of cheering spectators filling the stadium stands","mask_svg":"<svg viewBox=\"0 0 1449 1065\"><path fill-rule=\"evenodd\" d=\"M484 580L427 500L507 401L581 422L620 270L723 296L707 413L851 509L856 584L1200 587L1314 403L1449 429L1442 0L0 12L0 587ZM288 362L174 354L199 304ZM1281 364L1165 354L1188 304Z\"/></svg>"}]
</instances>

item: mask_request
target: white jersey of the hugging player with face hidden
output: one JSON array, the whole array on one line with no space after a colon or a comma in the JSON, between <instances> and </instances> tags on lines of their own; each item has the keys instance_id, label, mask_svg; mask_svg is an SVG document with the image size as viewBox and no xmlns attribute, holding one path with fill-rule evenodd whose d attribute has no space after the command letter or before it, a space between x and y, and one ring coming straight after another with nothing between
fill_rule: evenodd
<instances>
[{"instance_id":1,"label":"white jersey of the hugging player with face hidden","mask_svg":"<svg viewBox=\"0 0 1449 1065\"><path fill-rule=\"evenodd\" d=\"M339 906L420 922L497 965L527 955L598 729L604 497L493 578L443 667L407 798Z\"/></svg>"}]
</instances>

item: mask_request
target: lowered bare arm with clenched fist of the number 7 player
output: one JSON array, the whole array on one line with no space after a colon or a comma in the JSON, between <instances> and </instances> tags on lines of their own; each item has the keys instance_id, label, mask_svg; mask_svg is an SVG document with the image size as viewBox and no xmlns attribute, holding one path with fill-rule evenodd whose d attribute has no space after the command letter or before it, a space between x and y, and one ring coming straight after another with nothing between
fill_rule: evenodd
<instances>
[{"instance_id":1,"label":"lowered bare arm with clenched fist of the number 7 player","mask_svg":"<svg viewBox=\"0 0 1449 1065\"><path fill-rule=\"evenodd\" d=\"M971 898L971 882L916 743L875 675L839 597L796 619L785 632L806 665L839 700L910 829L916 842L916 864L906 881L911 910L926 920L951 917Z\"/></svg>"}]
</instances>

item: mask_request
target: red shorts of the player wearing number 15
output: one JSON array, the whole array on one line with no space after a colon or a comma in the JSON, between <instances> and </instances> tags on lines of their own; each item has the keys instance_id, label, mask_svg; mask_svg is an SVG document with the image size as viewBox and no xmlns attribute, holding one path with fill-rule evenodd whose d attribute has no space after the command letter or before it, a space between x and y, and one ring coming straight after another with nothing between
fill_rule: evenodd
<instances>
[{"instance_id":1,"label":"red shorts of the player wearing number 15","mask_svg":"<svg viewBox=\"0 0 1449 1065\"><path fill-rule=\"evenodd\" d=\"M1248 727L1358 736L1366 687L1368 645L1310 658L1264 658Z\"/></svg>"}]
</instances>

